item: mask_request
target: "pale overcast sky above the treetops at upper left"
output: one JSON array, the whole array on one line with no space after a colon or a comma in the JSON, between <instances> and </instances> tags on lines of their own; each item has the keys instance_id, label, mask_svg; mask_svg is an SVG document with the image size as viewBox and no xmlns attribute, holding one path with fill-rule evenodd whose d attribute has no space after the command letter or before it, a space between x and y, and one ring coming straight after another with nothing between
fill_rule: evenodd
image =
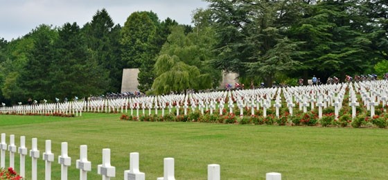
<instances>
[{"instance_id":1,"label":"pale overcast sky above the treetops at upper left","mask_svg":"<svg viewBox=\"0 0 388 180\"><path fill-rule=\"evenodd\" d=\"M207 8L208 3L202 0L0 0L0 5L0 38L10 41L26 35L39 24L62 26L77 22L82 27L103 8L121 26L132 12L150 10L161 21L170 17L179 24L191 24L192 11Z\"/></svg>"}]
</instances>

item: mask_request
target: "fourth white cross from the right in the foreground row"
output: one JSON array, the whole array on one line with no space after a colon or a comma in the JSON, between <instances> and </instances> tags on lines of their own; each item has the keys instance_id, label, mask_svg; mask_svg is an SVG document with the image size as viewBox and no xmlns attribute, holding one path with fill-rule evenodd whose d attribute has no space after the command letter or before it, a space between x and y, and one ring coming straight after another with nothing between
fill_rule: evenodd
<instances>
[{"instance_id":1,"label":"fourth white cross from the right in the foreground row","mask_svg":"<svg viewBox=\"0 0 388 180\"><path fill-rule=\"evenodd\" d=\"M124 180L145 180L144 172L139 170L139 152L130 153L130 170L124 171Z\"/></svg>"}]
</instances>

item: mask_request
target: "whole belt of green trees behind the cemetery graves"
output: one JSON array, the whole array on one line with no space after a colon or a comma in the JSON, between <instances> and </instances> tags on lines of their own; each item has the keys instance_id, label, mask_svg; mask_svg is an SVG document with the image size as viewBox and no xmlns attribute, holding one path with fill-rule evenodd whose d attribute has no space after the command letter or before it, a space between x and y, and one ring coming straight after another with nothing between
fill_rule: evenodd
<instances>
[{"instance_id":1,"label":"whole belt of green trees behind the cemetery graves","mask_svg":"<svg viewBox=\"0 0 388 180\"><path fill-rule=\"evenodd\" d=\"M143 11L121 26L103 9L82 27L0 35L0 102L119 92L125 68L139 68L149 94L217 88L222 71L267 87L388 72L386 0L206 1L193 25Z\"/></svg>"}]
</instances>

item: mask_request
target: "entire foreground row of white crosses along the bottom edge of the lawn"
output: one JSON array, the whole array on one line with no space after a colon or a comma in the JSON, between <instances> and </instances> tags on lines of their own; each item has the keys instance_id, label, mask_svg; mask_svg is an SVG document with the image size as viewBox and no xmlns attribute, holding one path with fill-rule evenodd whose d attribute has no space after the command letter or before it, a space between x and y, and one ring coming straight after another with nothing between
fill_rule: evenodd
<instances>
[{"instance_id":1,"label":"entire foreground row of white crosses along the bottom edge of the lawn","mask_svg":"<svg viewBox=\"0 0 388 180\"><path fill-rule=\"evenodd\" d=\"M25 177L25 157L27 155L26 137L20 137L20 175ZM67 142L61 143L61 155L58 156L58 163L61 165L61 180L67 178L67 169L71 166L71 157L69 157L67 150ZM8 149L7 149L8 147ZM10 145L6 144L6 134L1 134L1 168L5 168L6 150L10 153L10 167L15 168L15 135L10 135ZM32 138L32 149L30 150L30 157L32 159L31 179L38 179L37 174L37 160L39 159L39 150L37 149L37 138ZM51 163L54 162L54 154L51 152L51 140L46 140L45 152L42 153L42 159L45 161L45 175L44 179L51 179ZM91 162L87 159L87 145L80 145L80 159L76 160L76 168L80 170L80 180L87 179L87 172L91 171ZM103 162L97 165L97 173L102 176L103 180L109 180L111 177L116 177L116 168L110 163L110 149L103 149ZM139 170L139 152L130 153L130 170L124 171L125 180L144 180L145 173ZM164 159L164 177L157 178L158 180L175 180L175 163L174 159L169 157ZM270 172L266 174L266 179L281 180L281 174L277 172ZM220 180L220 165L208 165L208 180Z\"/></svg>"}]
</instances>

